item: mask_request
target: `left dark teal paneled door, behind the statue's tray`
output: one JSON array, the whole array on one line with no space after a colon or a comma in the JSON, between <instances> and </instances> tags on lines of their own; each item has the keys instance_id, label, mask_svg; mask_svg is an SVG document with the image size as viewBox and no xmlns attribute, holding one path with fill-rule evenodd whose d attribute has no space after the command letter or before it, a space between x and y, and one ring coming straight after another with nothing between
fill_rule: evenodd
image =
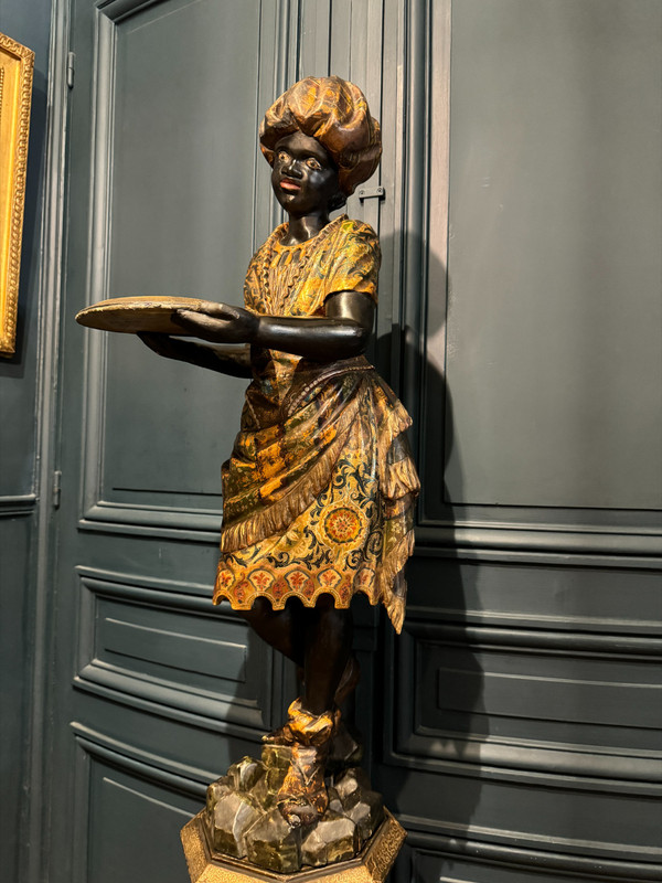
<instances>
[{"instance_id":1,"label":"left dark teal paneled door, behind the statue's tray","mask_svg":"<svg viewBox=\"0 0 662 883\"><path fill-rule=\"evenodd\" d=\"M73 3L52 883L182 883L204 784L279 716L280 662L210 604L242 382L74 315L138 294L241 302L271 226L256 130L289 77L288 14Z\"/></svg>"}]
</instances>

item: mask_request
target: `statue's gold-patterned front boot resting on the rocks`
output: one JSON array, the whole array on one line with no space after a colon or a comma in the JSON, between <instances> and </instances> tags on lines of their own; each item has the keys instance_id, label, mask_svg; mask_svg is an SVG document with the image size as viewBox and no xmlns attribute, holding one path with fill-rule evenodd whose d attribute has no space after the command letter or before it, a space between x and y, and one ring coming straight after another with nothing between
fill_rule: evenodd
<instances>
[{"instance_id":1,"label":"statue's gold-patterned front boot resting on the rocks","mask_svg":"<svg viewBox=\"0 0 662 883\"><path fill-rule=\"evenodd\" d=\"M292 827L313 825L327 811L329 796L324 767L340 712L310 714L296 700L282 727L291 742L291 759L276 798L281 816ZM285 736L284 736L285 737Z\"/></svg>"}]
</instances>

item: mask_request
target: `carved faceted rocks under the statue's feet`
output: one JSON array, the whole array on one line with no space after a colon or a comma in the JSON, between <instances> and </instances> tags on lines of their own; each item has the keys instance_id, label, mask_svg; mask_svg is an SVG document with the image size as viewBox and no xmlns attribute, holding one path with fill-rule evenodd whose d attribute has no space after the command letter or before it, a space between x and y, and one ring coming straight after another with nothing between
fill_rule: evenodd
<instances>
[{"instance_id":1,"label":"carved faceted rocks under the statue's feet","mask_svg":"<svg viewBox=\"0 0 662 883\"><path fill-rule=\"evenodd\" d=\"M213 852L291 874L357 855L384 819L382 797L360 767L327 780L329 808L314 825L290 827L276 806L290 748L267 745L244 757L207 788L205 832Z\"/></svg>"}]
</instances>

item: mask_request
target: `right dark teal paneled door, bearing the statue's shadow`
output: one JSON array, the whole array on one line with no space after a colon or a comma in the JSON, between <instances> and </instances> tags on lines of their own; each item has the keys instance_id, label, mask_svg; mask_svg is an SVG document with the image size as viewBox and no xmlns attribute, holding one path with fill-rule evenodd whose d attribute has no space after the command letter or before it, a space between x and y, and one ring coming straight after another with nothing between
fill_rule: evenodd
<instances>
[{"instance_id":1,"label":"right dark teal paneled door, bearing the statue's shadow","mask_svg":"<svg viewBox=\"0 0 662 883\"><path fill-rule=\"evenodd\" d=\"M398 883L660 874L661 12L405 13L423 492L384 666Z\"/></svg>"}]
</instances>

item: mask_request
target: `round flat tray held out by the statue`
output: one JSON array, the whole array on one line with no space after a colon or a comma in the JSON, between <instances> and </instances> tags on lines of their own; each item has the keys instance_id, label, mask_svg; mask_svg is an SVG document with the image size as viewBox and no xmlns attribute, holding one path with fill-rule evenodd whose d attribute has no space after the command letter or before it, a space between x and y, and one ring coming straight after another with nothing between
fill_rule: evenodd
<instances>
[{"instance_id":1,"label":"round flat tray held out by the statue","mask_svg":"<svg viewBox=\"0 0 662 883\"><path fill-rule=\"evenodd\" d=\"M151 331L190 336L190 331L172 321L172 315L175 310L204 311L205 304L209 301L196 297L114 297L81 310L76 321L87 328L127 334Z\"/></svg>"}]
</instances>

